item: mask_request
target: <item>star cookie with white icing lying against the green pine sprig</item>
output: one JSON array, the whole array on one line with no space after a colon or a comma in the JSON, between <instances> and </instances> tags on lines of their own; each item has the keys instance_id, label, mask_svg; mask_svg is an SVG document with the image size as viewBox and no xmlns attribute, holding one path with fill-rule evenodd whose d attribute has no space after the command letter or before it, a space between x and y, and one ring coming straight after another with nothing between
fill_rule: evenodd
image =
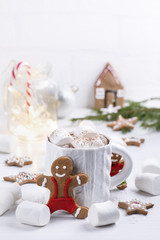
<instances>
[{"instance_id":1,"label":"star cookie with white icing lying against the green pine sprig","mask_svg":"<svg viewBox=\"0 0 160 240\"><path fill-rule=\"evenodd\" d=\"M122 128L134 128L134 123L138 121L137 117L124 118L119 115L117 121L113 121L107 124L108 127L112 127L114 131L121 130Z\"/></svg>"}]
</instances>

